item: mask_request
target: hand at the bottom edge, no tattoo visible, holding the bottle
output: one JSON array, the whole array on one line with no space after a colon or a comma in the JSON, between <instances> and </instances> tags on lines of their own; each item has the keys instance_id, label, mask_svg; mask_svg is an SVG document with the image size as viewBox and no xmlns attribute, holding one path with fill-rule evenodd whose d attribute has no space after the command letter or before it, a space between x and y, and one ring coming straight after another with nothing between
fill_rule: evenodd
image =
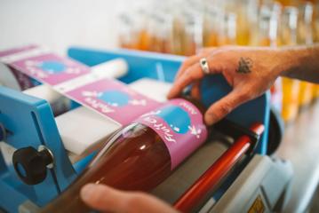
<instances>
[{"instance_id":1,"label":"hand at the bottom edge, no tattoo visible, holding the bottle","mask_svg":"<svg viewBox=\"0 0 319 213\"><path fill-rule=\"evenodd\" d=\"M108 185L88 184L81 190L82 200L92 209L125 213L177 213L171 206L152 195L140 192L123 192Z\"/></svg>"}]
</instances>

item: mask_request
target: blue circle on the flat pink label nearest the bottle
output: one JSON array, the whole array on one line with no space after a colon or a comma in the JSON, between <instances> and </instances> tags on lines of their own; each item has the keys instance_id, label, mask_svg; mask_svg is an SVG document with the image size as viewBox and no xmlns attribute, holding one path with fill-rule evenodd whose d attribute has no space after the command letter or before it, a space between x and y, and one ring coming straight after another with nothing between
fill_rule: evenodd
<instances>
[{"instance_id":1,"label":"blue circle on the flat pink label nearest the bottle","mask_svg":"<svg viewBox=\"0 0 319 213\"><path fill-rule=\"evenodd\" d=\"M125 106L129 103L130 96L123 91L104 91L99 99L110 106Z\"/></svg>"}]
</instances>

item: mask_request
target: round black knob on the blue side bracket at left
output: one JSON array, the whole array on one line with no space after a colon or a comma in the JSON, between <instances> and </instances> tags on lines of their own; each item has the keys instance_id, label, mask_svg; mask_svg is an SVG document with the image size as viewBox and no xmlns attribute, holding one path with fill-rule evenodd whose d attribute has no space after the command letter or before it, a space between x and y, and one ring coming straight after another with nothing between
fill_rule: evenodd
<instances>
[{"instance_id":1,"label":"round black knob on the blue side bracket at left","mask_svg":"<svg viewBox=\"0 0 319 213\"><path fill-rule=\"evenodd\" d=\"M14 170L24 183L36 185L44 181L47 168L53 163L53 157L46 148L37 151L34 147L28 146L16 150L12 162Z\"/></svg>"}]
</instances>

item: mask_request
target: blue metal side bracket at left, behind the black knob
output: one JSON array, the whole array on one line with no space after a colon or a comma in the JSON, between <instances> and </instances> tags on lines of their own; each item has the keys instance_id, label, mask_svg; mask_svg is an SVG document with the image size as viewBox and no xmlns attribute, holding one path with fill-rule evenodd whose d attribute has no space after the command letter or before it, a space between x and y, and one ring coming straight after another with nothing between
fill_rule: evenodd
<instances>
[{"instance_id":1,"label":"blue metal side bracket at left, behind the black knob","mask_svg":"<svg viewBox=\"0 0 319 213\"><path fill-rule=\"evenodd\" d=\"M48 147L54 155L54 169L50 170L44 182L38 185L23 184L16 175L12 162L5 162L0 154L0 193L7 199L0 199L0 206L12 205L17 208L20 201L28 198L36 205L43 206L76 177L68 155L61 143L50 105L43 99L36 99L8 88L0 87L0 122L7 137L5 143L16 149L26 146ZM58 168L58 169L57 169ZM14 191L10 187L14 188ZM11 194L14 192L14 196ZM18 195L19 193L19 195ZM8 207L9 208L9 207Z\"/></svg>"}]
</instances>

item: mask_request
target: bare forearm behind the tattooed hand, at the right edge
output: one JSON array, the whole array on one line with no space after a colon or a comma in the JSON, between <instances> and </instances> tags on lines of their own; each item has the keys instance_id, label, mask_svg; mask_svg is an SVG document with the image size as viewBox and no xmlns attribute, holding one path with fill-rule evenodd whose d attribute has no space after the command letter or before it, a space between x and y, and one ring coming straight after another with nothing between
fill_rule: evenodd
<instances>
[{"instance_id":1,"label":"bare forearm behind the tattooed hand, at the right edge","mask_svg":"<svg viewBox=\"0 0 319 213\"><path fill-rule=\"evenodd\" d=\"M283 57L280 75L319 83L319 44L286 47L280 55Z\"/></svg>"}]
</instances>

